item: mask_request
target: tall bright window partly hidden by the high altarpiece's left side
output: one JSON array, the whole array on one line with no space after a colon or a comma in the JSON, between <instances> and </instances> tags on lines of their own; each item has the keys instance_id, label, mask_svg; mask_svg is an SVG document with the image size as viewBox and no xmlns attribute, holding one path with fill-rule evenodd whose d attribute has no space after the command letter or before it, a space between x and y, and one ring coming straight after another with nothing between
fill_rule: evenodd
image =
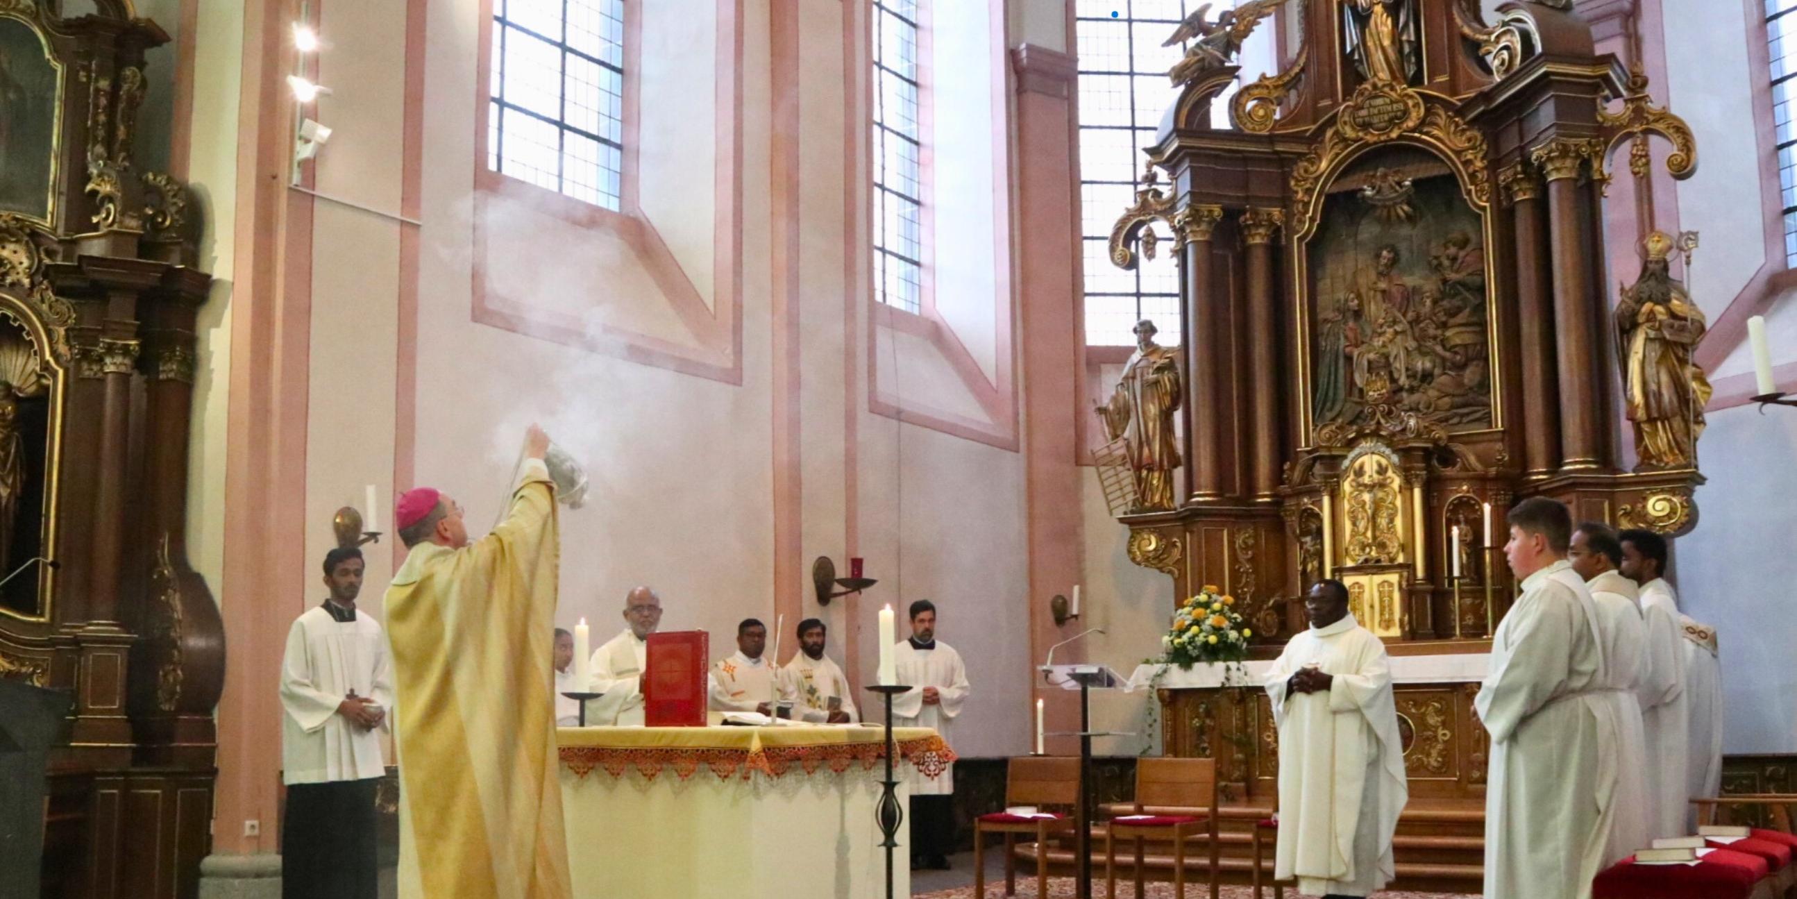
<instances>
[{"instance_id":1,"label":"tall bright window partly hidden by the high altarpiece's left side","mask_svg":"<svg viewBox=\"0 0 1797 899\"><path fill-rule=\"evenodd\" d=\"M1111 223L1136 201L1143 147L1179 92L1166 70L1184 56L1161 47L1186 13L1204 0L1076 0L1075 34L1080 65L1080 234L1085 237L1085 342L1136 343L1130 329L1152 318L1161 343L1179 340L1179 263L1161 246L1159 259L1141 259L1136 271L1111 264ZM1797 0L1790 0L1797 4ZM1211 4L1215 20L1233 0ZM1215 104L1227 126L1227 95ZM1164 237L1166 234L1163 234Z\"/></svg>"}]
</instances>

